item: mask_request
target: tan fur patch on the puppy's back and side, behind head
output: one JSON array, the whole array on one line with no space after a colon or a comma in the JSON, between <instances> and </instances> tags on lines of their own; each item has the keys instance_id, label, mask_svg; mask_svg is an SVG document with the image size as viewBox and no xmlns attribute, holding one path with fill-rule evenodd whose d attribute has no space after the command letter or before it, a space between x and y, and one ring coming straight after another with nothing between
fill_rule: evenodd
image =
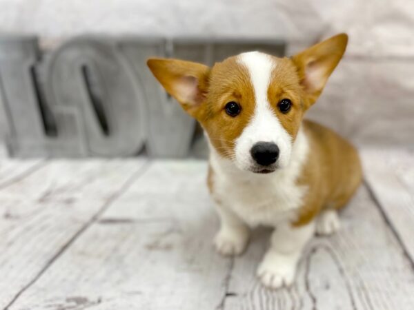
<instances>
[{"instance_id":1,"label":"tan fur patch on the puppy's back and side, behind head","mask_svg":"<svg viewBox=\"0 0 414 310\"><path fill-rule=\"evenodd\" d=\"M304 121L304 130L311 152L297 183L308 193L295 225L309 223L322 209L344 207L362 179L357 150L348 141L312 121Z\"/></svg>"}]
</instances>

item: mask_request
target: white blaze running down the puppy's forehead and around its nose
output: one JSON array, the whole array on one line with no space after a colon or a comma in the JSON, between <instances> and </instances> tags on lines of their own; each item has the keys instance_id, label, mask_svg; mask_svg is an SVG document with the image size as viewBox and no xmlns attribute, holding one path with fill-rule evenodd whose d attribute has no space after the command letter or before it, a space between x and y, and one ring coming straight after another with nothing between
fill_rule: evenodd
<instances>
[{"instance_id":1,"label":"white blaze running down the puppy's forehead and around its nose","mask_svg":"<svg viewBox=\"0 0 414 310\"><path fill-rule=\"evenodd\" d=\"M237 61L248 70L250 83L255 92L255 112L236 141L237 165L242 169L255 165L250 156L250 149L255 143L265 141L273 142L279 147L278 164L284 167L290 159L292 138L279 122L268 101L268 87L277 60L261 52L248 52L240 54Z\"/></svg>"}]
</instances>

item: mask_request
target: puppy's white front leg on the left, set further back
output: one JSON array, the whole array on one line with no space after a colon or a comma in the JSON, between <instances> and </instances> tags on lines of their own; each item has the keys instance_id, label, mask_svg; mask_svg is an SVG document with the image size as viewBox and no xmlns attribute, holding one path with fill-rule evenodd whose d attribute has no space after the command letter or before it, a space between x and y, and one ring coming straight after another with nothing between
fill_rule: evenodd
<instances>
[{"instance_id":1,"label":"puppy's white front leg on the left, set further back","mask_svg":"<svg viewBox=\"0 0 414 310\"><path fill-rule=\"evenodd\" d=\"M250 229L233 211L217 205L220 230L215 236L215 247L224 256L242 254L248 242Z\"/></svg>"}]
</instances>

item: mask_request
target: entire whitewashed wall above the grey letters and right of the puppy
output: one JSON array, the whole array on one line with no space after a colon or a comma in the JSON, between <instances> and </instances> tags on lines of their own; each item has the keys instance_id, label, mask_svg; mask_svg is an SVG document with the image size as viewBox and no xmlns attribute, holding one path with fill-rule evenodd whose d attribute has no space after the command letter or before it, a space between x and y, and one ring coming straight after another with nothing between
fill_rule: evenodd
<instances>
[{"instance_id":1,"label":"entire whitewashed wall above the grey letters and right of the puppy","mask_svg":"<svg viewBox=\"0 0 414 310\"><path fill-rule=\"evenodd\" d=\"M0 32L285 38L290 51L337 32L344 61L310 116L357 143L414 145L414 1L0 0Z\"/></svg>"}]
</instances>

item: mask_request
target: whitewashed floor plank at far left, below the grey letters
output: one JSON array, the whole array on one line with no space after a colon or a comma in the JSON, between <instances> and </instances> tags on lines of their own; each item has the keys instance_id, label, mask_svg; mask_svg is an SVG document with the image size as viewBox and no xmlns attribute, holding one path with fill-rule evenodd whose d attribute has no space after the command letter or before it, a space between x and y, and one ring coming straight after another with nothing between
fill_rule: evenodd
<instances>
[{"instance_id":1,"label":"whitewashed floor plank at far left, below the grey letters","mask_svg":"<svg viewBox=\"0 0 414 310\"><path fill-rule=\"evenodd\" d=\"M0 309L117 198L146 161L52 161L0 191Z\"/></svg>"}]
</instances>

